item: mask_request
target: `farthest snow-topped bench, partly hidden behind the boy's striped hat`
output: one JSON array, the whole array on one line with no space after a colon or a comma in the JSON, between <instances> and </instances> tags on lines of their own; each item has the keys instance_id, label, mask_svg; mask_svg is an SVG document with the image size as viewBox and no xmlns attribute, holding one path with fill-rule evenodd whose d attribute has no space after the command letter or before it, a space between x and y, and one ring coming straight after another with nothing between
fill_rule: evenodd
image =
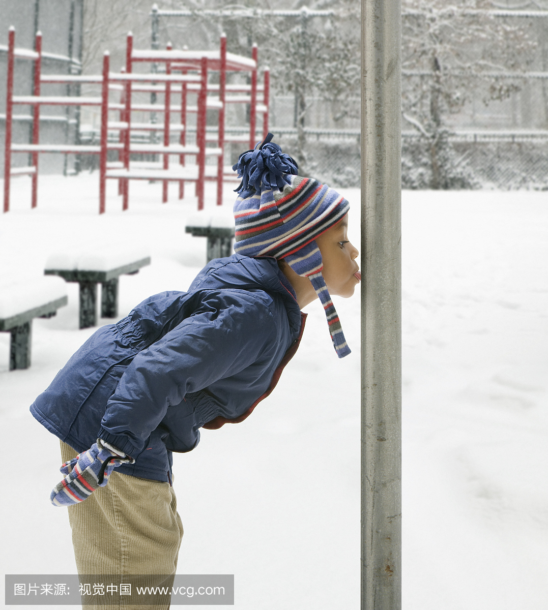
<instances>
[{"instance_id":1,"label":"farthest snow-topped bench, partly hidden behind the boy's striped hat","mask_svg":"<svg viewBox=\"0 0 548 610\"><path fill-rule=\"evenodd\" d=\"M230 256L234 237L234 217L229 207L201 210L188 218L185 231L207 237L206 262Z\"/></svg>"}]
</instances>

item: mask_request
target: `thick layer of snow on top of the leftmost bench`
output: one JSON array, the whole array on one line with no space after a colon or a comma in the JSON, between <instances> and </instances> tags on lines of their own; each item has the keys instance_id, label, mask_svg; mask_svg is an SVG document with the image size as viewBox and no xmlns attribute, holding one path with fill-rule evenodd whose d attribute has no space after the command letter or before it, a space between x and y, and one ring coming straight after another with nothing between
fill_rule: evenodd
<instances>
[{"instance_id":1,"label":"thick layer of snow on top of the leftmost bench","mask_svg":"<svg viewBox=\"0 0 548 610\"><path fill-rule=\"evenodd\" d=\"M61 278L38 277L26 283L0 281L0 318L23 314L63 296L67 296L67 284Z\"/></svg>"}]
</instances>

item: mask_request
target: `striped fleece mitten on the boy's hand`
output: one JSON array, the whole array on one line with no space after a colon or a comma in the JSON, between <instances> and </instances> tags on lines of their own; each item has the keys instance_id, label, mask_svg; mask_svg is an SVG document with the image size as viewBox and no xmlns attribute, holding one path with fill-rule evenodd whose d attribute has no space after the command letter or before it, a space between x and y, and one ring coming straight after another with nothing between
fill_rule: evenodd
<instances>
[{"instance_id":1,"label":"striped fleece mitten on the boy's hand","mask_svg":"<svg viewBox=\"0 0 548 610\"><path fill-rule=\"evenodd\" d=\"M49 499L54 506L78 504L98 487L104 487L115 467L134 463L123 451L97 439L90 449L62 465L65 478L54 487Z\"/></svg>"}]
</instances>

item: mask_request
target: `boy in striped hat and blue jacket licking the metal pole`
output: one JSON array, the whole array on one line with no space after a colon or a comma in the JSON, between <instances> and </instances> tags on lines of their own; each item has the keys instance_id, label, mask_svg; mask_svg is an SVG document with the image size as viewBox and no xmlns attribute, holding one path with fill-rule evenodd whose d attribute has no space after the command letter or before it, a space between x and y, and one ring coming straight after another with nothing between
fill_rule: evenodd
<instances>
[{"instance_id":1,"label":"boy in striped hat and blue jacket licking the metal pole","mask_svg":"<svg viewBox=\"0 0 548 610\"><path fill-rule=\"evenodd\" d=\"M31 406L61 440L51 501L68 506L79 574L175 574L171 452L269 395L297 351L302 307L319 297L337 355L350 353L330 297L360 279L348 201L297 176L270 140L234 166L236 254L212 260L188 292L151 296L99 328Z\"/></svg>"}]
</instances>

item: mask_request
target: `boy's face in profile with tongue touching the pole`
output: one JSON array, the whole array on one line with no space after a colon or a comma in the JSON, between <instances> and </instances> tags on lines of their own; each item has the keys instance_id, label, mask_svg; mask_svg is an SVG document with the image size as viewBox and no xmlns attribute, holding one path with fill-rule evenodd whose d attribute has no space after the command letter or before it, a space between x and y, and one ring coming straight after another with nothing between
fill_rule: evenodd
<instances>
[{"instance_id":1,"label":"boy's face in profile with tongue touching the pole","mask_svg":"<svg viewBox=\"0 0 548 610\"><path fill-rule=\"evenodd\" d=\"M315 239L322 253L322 275L330 295L352 296L359 284L358 250L348 241L348 214ZM357 275L356 275L357 273Z\"/></svg>"}]
</instances>

